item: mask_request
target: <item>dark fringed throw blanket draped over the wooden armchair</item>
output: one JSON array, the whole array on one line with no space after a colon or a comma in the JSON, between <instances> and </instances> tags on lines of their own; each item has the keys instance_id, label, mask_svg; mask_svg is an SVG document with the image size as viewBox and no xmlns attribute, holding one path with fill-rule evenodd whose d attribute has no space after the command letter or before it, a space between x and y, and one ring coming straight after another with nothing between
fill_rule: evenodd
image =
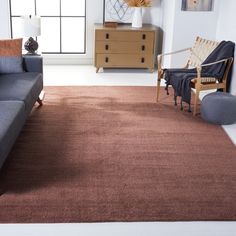
<instances>
[{"instance_id":1,"label":"dark fringed throw blanket draped over the wooden armchair","mask_svg":"<svg viewBox=\"0 0 236 236\"><path fill-rule=\"evenodd\" d=\"M207 57L207 59L202 64L208 64L216 62L219 60L234 57L235 44L231 41L222 41L213 52ZM203 67L202 77L215 77L218 80L223 78L226 65L224 62ZM227 88L229 88L231 73L229 73L229 78L227 79ZM166 80L166 90L168 92L168 86L172 85L174 88L174 98L175 104L177 97L181 97L181 107L182 102L186 102L190 105L191 102L191 80L197 77L197 70L194 69L165 69L164 78Z\"/></svg>"}]
</instances>

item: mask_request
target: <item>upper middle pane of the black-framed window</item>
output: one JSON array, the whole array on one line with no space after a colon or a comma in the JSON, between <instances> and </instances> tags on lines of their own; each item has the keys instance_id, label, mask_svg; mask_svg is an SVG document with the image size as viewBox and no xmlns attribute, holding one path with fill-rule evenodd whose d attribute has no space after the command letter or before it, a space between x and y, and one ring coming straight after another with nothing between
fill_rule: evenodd
<instances>
[{"instance_id":1,"label":"upper middle pane of the black-framed window","mask_svg":"<svg viewBox=\"0 0 236 236\"><path fill-rule=\"evenodd\" d=\"M37 15L60 16L60 0L37 0Z\"/></svg>"}]
</instances>

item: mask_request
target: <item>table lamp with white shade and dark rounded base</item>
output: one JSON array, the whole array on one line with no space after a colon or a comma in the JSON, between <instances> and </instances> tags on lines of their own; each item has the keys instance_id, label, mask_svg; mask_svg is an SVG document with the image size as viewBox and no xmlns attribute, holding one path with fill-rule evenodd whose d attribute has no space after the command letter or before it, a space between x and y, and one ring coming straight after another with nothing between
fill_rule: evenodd
<instances>
[{"instance_id":1,"label":"table lamp with white shade and dark rounded base","mask_svg":"<svg viewBox=\"0 0 236 236\"><path fill-rule=\"evenodd\" d=\"M22 35L30 37L25 42L25 50L28 54L37 54L38 42L33 37L40 36L41 34L41 20L37 16L22 16L21 17L21 31Z\"/></svg>"}]
</instances>

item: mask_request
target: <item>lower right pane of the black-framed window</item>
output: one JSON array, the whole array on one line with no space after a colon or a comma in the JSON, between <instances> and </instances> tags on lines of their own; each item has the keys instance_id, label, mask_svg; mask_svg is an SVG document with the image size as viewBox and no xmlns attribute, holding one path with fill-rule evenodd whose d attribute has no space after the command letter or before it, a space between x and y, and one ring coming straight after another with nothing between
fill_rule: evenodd
<instances>
[{"instance_id":1,"label":"lower right pane of the black-framed window","mask_svg":"<svg viewBox=\"0 0 236 236\"><path fill-rule=\"evenodd\" d=\"M62 17L62 52L84 53L84 18Z\"/></svg>"}]
</instances>

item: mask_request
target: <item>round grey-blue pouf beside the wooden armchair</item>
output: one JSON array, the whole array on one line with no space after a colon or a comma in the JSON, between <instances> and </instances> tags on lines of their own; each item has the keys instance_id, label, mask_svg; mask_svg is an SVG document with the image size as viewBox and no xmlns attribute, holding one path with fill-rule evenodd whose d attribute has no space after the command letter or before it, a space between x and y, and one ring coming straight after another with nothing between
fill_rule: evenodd
<instances>
[{"instance_id":1,"label":"round grey-blue pouf beside the wooden armchair","mask_svg":"<svg viewBox=\"0 0 236 236\"><path fill-rule=\"evenodd\" d=\"M201 104L201 116L213 124L236 123L236 96L223 92L206 95Z\"/></svg>"}]
</instances>

